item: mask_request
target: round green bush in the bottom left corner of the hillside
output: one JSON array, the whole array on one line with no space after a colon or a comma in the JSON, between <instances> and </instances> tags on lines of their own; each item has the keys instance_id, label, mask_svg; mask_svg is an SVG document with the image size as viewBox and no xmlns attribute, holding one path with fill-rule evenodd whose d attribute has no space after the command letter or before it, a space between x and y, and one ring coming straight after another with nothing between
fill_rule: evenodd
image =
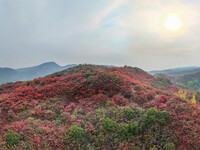
<instances>
[{"instance_id":1,"label":"round green bush in the bottom left corner of the hillside","mask_svg":"<svg viewBox=\"0 0 200 150\"><path fill-rule=\"evenodd\" d=\"M14 132L13 130L8 130L6 141L9 147L13 147L14 145L17 145L20 142L19 134Z\"/></svg>"}]
</instances>

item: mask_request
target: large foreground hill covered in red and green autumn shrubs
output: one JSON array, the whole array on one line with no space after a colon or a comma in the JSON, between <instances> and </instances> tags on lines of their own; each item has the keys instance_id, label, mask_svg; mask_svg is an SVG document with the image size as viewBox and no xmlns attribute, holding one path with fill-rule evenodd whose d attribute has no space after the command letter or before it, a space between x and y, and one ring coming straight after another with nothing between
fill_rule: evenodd
<instances>
[{"instance_id":1,"label":"large foreground hill covered in red and green autumn shrubs","mask_svg":"<svg viewBox=\"0 0 200 150\"><path fill-rule=\"evenodd\" d=\"M0 149L200 149L199 105L140 68L79 65L0 89Z\"/></svg>"}]
</instances>

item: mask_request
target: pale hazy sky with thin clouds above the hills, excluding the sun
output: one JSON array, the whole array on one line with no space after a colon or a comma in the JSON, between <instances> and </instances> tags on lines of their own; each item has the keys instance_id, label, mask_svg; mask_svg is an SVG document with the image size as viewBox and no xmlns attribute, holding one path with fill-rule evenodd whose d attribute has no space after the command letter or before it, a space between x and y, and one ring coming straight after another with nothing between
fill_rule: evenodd
<instances>
[{"instance_id":1,"label":"pale hazy sky with thin clouds above the hills, excluding the sun","mask_svg":"<svg viewBox=\"0 0 200 150\"><path fill-rule=\"evenodd\" d=\"M199 18L199 0L0 0L0 67L200 66Z\"/></svg>"}]
</instances>

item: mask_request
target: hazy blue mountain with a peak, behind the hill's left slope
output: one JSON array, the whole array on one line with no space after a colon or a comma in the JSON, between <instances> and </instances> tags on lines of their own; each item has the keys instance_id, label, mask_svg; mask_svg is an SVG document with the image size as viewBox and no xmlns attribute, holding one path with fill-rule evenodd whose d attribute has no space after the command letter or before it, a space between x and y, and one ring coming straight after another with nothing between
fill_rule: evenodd
<instances>
[{"instance_id":1,"label":"hazy blue mountain with a peak, behind the hill's left slope","mask_svg":"<svg viewBox=\"0 0 200 150\"><path fill-rule=\"evenodd\" d=\"M55 62L47 62L38 66L28 68L0 68L0 84L7 82L32 80L34 78L44 77L48 74L67 69L73 66L76 66L76 64L59 66Z\"/></svg>"}]
</instances>

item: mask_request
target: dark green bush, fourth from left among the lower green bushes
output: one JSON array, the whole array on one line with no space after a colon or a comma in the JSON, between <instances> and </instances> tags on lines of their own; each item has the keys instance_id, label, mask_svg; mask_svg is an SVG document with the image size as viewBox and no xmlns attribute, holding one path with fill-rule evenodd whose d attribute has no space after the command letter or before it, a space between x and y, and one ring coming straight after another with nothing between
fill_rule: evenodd
<instances>
[{"instance_id":1,"label":"dark green bush, fourth from left among the lower green bushes","mask_svg":"<svg viewBox=\"0 0 200 150\"><path fill-rule=\"evenodd\" d=\"M117 133L121 136L122 139L126 140L127 138L130 137L129 125L121 124L117 130Z\"/></svg>"}]
</instances>

